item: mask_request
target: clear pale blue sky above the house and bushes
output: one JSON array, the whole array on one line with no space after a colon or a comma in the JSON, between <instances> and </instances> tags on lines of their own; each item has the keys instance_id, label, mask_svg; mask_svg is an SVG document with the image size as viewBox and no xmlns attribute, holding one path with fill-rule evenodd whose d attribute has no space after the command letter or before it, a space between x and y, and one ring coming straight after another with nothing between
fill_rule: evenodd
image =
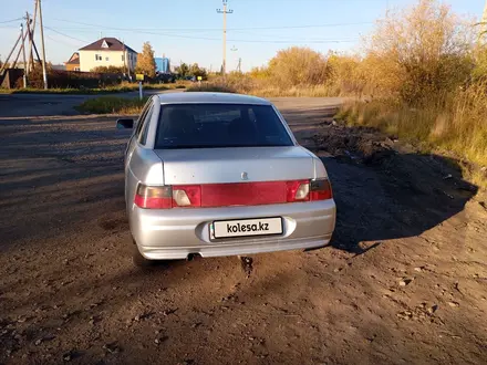
<instances>
[{"instance_id":1,"label":"clear pale blue sky above the house and bushes","mask_svg":"<svg viewBox=\"0 0 487 365\"><path fill-rule=\"evenodd\" d=\"M0 58L6 59L18 36L18 23L33 12L33 0L1 0ZM481 17L485 0L449 0L455 12ZM280 49L308 45L320 52L353 51L390 8L414 0L228 0L227 67L260 66ZM68 61L79 48L103 36L115 36L136 51L149 41L156 55L221 65L221 0L42 0L46 58ZM76 22L76 23L75 23ZM84 24L81 24L84 23ZM322 27L310 27L322 25ZM291 28L294 27L294 28ZM270 29L269 29L270 28ZM39 36L39 34L37 34ZM235 51L231 51L235 49Z\"/></svg>"}]
</instances>

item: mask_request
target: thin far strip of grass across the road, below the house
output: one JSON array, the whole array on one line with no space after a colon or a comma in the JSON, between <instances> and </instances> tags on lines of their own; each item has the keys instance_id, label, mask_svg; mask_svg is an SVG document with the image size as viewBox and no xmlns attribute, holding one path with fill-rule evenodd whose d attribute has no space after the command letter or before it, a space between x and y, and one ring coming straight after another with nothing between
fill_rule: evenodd
<instances>
[{"instance_id":1,"label":"thin far strip of grass across the road, below the house","mask_svg":"<svg viewBox=\"0 0 487 365\"><path fill-rule=\"evenodd\" d=\"M186 88L183 83L175 84L145 84L144 90L173 90ZM96 95L96 94L115 94L127 93L138 90L137 83L124 83L115 86L96 87L96 88L0 88L0 94L65 94L65 95Z\"/></svg>"}]
</instances>

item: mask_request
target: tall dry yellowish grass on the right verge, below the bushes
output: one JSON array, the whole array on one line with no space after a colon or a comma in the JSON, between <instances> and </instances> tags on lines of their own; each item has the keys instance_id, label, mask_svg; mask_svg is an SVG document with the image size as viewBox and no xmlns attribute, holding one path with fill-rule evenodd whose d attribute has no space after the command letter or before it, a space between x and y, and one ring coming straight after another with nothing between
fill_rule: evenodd
<instances>
[{"instance_id":1,"label":"tall dry yellowish grass on the right verge, below the bushes","mask_svg":"<svg viewBox=\"0 0 487 365\"><path fill-rule=\"evenodd\" d=\"M427 152L460 161L467 177L487 188L487 115L485 83L446 97L443 103L408 107L391 100L345 104L336 118L376 127Z\"/></svg>"}]
</instances>

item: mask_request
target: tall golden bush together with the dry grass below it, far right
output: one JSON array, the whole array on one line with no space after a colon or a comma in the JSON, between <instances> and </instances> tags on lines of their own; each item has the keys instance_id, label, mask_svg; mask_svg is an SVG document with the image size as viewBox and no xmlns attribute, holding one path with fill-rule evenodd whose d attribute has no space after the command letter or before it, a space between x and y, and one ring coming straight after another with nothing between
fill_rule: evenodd
<instances>
[{"instance_id":1,"label":"tall golden bush together with the dry grass below it, far right","mask_svg":"<svg viewBox=\"0 0 487 365\"><path fill-rule=\"evenodd\" d=\"M338 117L456 157L486 187L487 48L474 23L433 0L388 13L355 69L366 101Z\"/></svg>"}]
</instances>

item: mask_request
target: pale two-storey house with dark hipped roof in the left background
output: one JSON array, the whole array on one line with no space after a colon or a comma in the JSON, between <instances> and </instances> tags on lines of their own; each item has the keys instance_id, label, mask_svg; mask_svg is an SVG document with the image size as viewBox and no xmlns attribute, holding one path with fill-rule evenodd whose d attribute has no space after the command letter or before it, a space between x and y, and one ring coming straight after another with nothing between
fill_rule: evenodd
<instances>
[{"instance_id":1,"label":"pale two-storey house with dark hipped roof in the left background","mask_svg":"<svg viewBox=\"0 0 487 365\"><path fill-rule=\"evenodd\" d=\"M79 50L80 71L92 71L97 66L128 67L135 70L137 52L116 38L102 38ZM69 61L68 61L69 62Z\"/></svg>"}]
</instances>

